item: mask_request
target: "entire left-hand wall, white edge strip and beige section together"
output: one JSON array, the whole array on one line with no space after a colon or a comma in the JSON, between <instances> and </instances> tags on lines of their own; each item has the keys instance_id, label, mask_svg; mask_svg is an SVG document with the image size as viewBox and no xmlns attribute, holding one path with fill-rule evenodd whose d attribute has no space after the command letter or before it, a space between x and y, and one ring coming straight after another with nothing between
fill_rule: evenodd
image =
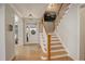
<instances>
[{"instance_id":1,"label":"entire left-hand wall, white edge strip and beige section together","mask_svg":"<svg viewBox=\"0 0 85 64\"><path fill-rule=\"evenodd\" d=\"M14 56L14 33L9 25L14 23L14 12L9 4L0 4L0 60L11 60Z\"/></svg>"}]
</instances>

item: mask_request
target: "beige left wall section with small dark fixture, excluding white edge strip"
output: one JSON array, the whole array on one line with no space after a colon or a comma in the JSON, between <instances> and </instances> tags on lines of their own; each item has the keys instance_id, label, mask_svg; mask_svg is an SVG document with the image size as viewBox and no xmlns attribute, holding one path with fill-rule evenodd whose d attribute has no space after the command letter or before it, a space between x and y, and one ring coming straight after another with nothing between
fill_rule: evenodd
<instances>
[{"instance_id":1,"label":"beige left wall section with small dark fixture, excluding white edge strip","mask_svg":"<svg viewBox=\"0 0 85 64\"><path fill-rule=\"evenodd\" d=\"M11 60L15 54L14 33L9 30L9 25L14 23L14 11L5 4L5 60Z\"/></svg>"}]
</instances>

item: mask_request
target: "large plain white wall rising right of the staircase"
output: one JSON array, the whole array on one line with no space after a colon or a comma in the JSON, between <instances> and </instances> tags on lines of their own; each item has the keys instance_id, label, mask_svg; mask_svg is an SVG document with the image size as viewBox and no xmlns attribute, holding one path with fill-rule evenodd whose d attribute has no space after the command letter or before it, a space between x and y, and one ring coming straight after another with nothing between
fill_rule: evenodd
<instances>
[{"instance_id":1,"label":"large plain white wall rising right of the staircase","mask_svg":"<svg viewBox=\"0 0 85 64\"><path fill-rule=\"evenodd\" d=\"M77 4L71 4L68 13L60 21L56 31L71 57L79 60L80 51L80 20Z\"/></svg>"}]
</instances>

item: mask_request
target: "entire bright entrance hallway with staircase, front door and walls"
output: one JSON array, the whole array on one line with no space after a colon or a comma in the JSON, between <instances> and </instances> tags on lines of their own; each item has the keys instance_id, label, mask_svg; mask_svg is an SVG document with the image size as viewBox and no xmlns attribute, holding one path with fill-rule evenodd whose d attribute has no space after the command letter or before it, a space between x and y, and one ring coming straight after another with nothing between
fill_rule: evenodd
<instances>
[{"instance_id":1,"label":"entire bright entrance hallway with staircase, front door and walls","mask_svg":"<svg viewBox=\"0 0 85 64\"><path fill-rule=\"evenodd\" d=\"M0 4L0 60L84 60L84 11L72 3Z\"/></svg>"}]
</instances>

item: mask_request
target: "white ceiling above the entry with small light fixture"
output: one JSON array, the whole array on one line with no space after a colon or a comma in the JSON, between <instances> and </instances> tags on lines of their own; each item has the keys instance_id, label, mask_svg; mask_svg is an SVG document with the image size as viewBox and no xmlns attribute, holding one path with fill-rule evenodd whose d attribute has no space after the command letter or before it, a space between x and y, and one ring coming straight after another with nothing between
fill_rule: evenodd
<instances>
[{"instance_id":1,"label":"white ceiling above the entry with small light fixture","mask_svg":"<svg viewBox=\"0 0 85 64\"><path fill-rule=\"evenodd\" d=\"M15 3L13 7L20 13L22 17L40 18L47 9L48 3Z\"/></svg>"}]
</instances>

